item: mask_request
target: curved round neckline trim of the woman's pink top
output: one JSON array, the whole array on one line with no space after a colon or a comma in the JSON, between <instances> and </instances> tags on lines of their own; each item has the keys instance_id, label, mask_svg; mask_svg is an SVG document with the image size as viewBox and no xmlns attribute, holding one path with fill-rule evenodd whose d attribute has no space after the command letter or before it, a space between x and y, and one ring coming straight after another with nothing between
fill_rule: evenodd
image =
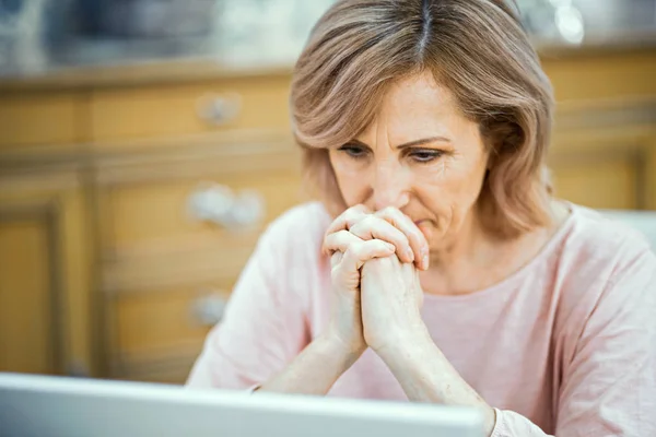
<instances>
[{"instance_id":1,"label":"curved round neckline trim of the woman's pink top","mask_svg":"<svg viewBox=\"0 0 656 437\"><path fill-rule=\"evenodd\" d=\"M558 248L560 246L560 244L562 243L562 239L565 237L565 235L569 234L570 229L572 228L575 216L578 215L578 210L577 210L576 205L574 205L573 203L571 203L569 201L562 201L562 202L570 210L570 214L563 221L563 223L560 225L558 231L555 233L553 233L553 235L549 238L549 240L544 245L542 245L542 247L540 248L538 253L536 253L535 257L532 257L528 262L526 262L519 269L515 270L513 273L511 273L503 280L499 281L497 283L492 284L485 288L478 290L476 292L471 292L471 293L467 293L467 294L455 294L455 295L424 293L423 294L424 303L427 300L456 302L456 300L469 300L469 299L481 298L491 293L494 293L499 288L504 288L508 283L515 282L519 277L528 274L531 270L534 270L536 264L542 262L546 258L549 258L553 253L555 248Z\"/></svg>"}]
</instances>

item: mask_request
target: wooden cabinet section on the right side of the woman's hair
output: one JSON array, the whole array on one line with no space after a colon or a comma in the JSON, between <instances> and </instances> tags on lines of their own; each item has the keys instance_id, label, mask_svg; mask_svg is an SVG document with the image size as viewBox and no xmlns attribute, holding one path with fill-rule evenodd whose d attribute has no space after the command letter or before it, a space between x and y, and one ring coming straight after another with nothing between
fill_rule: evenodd
<instances>
[{"instance_id":1,"label":"wooden cabinet section on the right side of the woman's hair","mask_svg":"<svg viewBox=\"0 0 656 437\"><path fill-rule=\"evenodd\" d=\"M557 196L656 209L656 51L543 63L558 101L549 154Z\"/></svg>"}]
</instances>

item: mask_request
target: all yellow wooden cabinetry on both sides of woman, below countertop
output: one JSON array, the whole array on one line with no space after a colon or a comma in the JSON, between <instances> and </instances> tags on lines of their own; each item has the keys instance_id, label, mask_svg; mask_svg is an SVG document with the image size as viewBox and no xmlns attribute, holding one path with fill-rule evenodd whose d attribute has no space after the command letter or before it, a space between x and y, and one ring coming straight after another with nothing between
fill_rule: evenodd
<instances>
[{"instance_id":1,"label":"all yellow wooden cabinetry on both sides of woman, below countertop","mask_svg":"<svg viewBox=\"0 0 656 437\"><path fill-rule=\"evenodd\" d=\"M543 61L557 194L656 210L656 51ZM0 82L0 370L183 382L304 200L289 71L164 68Z\"/></svg>"}]
</instances>

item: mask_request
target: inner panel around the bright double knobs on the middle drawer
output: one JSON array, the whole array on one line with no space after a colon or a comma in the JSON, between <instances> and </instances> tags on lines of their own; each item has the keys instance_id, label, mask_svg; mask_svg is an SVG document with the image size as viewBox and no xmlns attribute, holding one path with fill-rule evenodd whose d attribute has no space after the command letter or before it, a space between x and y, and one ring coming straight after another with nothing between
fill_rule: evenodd
<instances>
[{"instance_id":1,"label":"inner panel around the bright double knobs on the middle drawer","mask_svg":"<svg viewBox=\"0 0 656 437\"><path fill-rule=\"evenodd\" d=\"M148 252L167 241L176 246L210 235L225 235L223 244L229 245L259 233L297 204L300 191L293 169L115 186L102 197L104 250L120 257L124 249Z\"/></svg>"}]
</instances>

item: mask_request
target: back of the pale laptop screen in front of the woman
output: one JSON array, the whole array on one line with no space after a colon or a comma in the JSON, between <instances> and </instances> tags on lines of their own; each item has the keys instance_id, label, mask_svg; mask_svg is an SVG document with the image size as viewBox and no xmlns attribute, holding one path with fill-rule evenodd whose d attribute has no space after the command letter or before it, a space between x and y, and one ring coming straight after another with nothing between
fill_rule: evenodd
<instances>
[{"instance_id":1,"label":"back of the pale laptop screen in front of the woman","mask_svg":"<svg viewBox=\"0 0 656 437\"><path fill-rule=\"evenodd\" d=\"M0 374L0 436L482 437L464 408Z\"/></svg>"}]
</instances>

